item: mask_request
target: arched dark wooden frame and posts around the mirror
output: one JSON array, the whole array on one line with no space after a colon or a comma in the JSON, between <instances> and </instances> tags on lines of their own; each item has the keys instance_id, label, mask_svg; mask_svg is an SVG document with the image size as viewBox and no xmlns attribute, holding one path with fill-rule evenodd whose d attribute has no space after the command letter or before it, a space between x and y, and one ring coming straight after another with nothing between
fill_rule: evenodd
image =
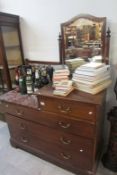
<instances>
[{"instance_id":1,"label":"arched dark wooden frame and posts around the mirror","mask_svg":"<svg viewBox=\"0 0 117 175\"><path fill-rule=\"evenodd\" d=\"M61 34L59 35L59 55L60 63L65 64L65 38L64 38L64 28L72 24L73 22L79 19L88 19L94 22L103 22L102 26L102 62L106 64L109 63L109 46L110 46L110 29L108 29L106 34L106 17L96 17L90 14L79 14L78 16L73 17L65 23L61 24Z\"/></svg>"}]
</instances>

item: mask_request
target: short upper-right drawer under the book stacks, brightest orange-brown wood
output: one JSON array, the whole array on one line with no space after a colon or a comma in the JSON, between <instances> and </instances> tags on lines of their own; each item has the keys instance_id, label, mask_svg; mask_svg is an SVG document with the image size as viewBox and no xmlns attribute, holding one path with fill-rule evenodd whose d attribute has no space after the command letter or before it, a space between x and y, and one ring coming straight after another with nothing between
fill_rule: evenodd
<instances>
[{"instance_id":1,"label":"short upper-right drawer under the book stacks, brightest orange-brown wood","mask_svg":"<svg viewBox=\"0 0 117 175\"><path fill-rule=\"evenodd\" d=\"M42 111L96 121L96 107L92 104L40 96L39 105Z\"/></svg>"}]
</instances>

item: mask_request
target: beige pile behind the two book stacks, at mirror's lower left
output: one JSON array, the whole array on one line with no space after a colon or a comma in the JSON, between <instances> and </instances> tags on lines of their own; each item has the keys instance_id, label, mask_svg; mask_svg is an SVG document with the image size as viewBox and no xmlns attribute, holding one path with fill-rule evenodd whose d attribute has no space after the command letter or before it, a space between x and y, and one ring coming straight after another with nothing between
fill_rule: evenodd
<instances>
[{"instance_id":1,"label":"beige pile behind the two book stacks, at mirror's lower left","mask_svg":"<svg viewBox=\"0 0 117 175\"><path fill-rule=\"evenodd\" d=\"M74 58L74 59L69 59L69 60L65 61L65 64L68 66L71 73L73 73L77 67L79 67L85 63L86 62L82 58Z\"/></svg>"}]
</instances>

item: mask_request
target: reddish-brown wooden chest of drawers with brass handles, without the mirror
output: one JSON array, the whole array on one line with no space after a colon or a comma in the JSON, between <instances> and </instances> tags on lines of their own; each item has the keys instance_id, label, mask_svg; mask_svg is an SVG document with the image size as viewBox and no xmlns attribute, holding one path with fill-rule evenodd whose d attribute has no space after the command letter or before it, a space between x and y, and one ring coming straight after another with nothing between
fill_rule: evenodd
<instances>
[{"instance_id":1,"label":"reddish-brown wooden chest of drawers with brass handles, without the mirror","mask_svg":"<svg viewBox=\"0 0 117 175\"><path fill-rule=\"evenodd\" d=\"M38 106L31 107L2 99L12 145L76 174L95 174L102 150L105 92L92 96L74 91L59 97L44 87L37 99Z\"/></svg>"}]
</instances>

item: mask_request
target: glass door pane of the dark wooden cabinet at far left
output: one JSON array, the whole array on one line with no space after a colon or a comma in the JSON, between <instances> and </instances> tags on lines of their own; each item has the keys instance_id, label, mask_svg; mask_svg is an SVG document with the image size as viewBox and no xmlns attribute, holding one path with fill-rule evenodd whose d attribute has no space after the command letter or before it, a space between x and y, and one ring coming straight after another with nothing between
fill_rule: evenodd
<instances>
[{"instance_id":1,"label":"glass door pane of the dark wooden cabinet at far left","mask_svg":"<svg viewBox=\"0 0 117 175\"><path fill-rule=\"evenodd\" d=\"M16 27L12 26L2 26L1 30L2 30L3 45L5 49L5 56L7 59L7 64L10 73L10 79L12 87L14 87L15 68L18 65L22 64L22 54L20 50L18 30ZM2 70L2 77L5 85L6 80L4 79L4 70Z\"/></svg>"}]
</instances>

